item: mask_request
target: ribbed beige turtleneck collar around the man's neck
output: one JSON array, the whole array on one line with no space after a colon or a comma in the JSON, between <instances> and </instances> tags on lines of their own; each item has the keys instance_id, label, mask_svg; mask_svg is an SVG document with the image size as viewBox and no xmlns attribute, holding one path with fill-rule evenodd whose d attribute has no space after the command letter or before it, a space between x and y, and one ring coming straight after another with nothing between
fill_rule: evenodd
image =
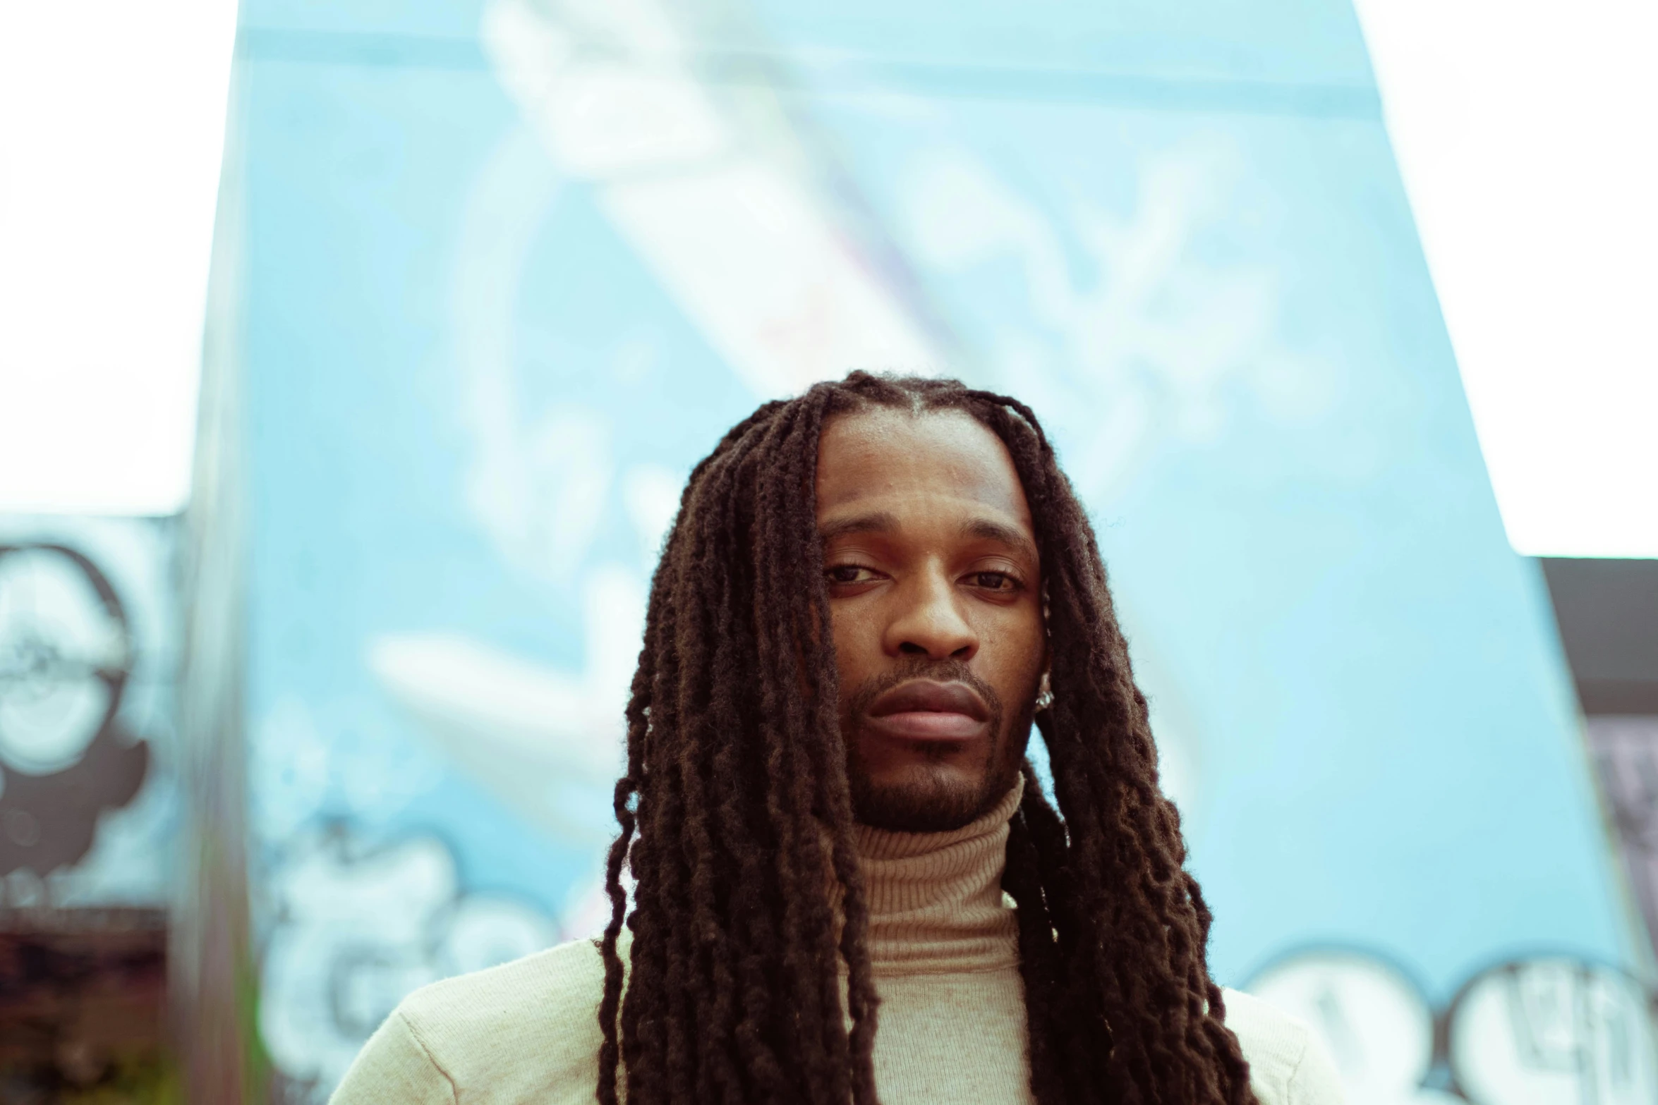
<instances>
[{"instance_id":1,"label":"ribbed beige turtleneck collar around the man's neck","mask_svg":"<svg viewBox=\"0 0 1658 1105\"><path fill-rule=\"evenodd\" d=\"M988 813L947 833L854 827L875 974L955 974L1018 964L1018 919L1001 895L1001 871L1008 822L1023 790L1021 779Z\"/></svg>"}]
</instances>

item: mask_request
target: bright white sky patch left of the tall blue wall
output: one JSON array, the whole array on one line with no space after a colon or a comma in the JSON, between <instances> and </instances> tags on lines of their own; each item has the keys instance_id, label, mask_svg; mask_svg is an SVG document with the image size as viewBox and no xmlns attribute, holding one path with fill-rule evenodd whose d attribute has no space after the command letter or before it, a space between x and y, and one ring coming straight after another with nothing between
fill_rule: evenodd
<instances>
[{"instance_id":1,"label":"bright white sky patch left of the tall blue wall","mask_svg":"<svg viewBox=\"0 0 1658 1105\"><path fill-rule=\"evenodd\" d=\"M0 5L0 510L189 494L234 0Z\"/></svg>"}]
</instances>

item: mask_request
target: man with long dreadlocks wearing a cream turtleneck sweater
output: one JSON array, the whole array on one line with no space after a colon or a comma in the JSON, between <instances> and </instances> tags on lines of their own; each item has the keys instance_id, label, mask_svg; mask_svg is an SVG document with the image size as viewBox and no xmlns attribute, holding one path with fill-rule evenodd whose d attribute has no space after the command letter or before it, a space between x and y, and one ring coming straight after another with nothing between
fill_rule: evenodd
<instances>
[{"instance_id":1,"label":"man with long dreadlocks wearing a cream turtleneck sweater","mask_svg":"<svg viewBox=\"0 0 1658 1105\"><path fill-rule=\"evenodd\" d=\"M652 585L604 939L418 991L335 1102L1338 1102L1210 981L1156 765L1030 409L865 373L768 403Z\"/></svg>"}]
</instances>

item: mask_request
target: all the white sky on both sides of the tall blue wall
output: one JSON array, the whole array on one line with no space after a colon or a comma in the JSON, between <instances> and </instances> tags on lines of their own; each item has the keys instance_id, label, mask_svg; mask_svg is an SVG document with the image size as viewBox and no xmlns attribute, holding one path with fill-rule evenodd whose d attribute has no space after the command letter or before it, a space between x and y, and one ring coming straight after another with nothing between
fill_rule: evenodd
<instances>
[{"instance_id":1,"label":"all the white sky on both sides of the tall blue wall","mask_svg":"<svg viewBox=\"0 0 1658 1105\"><path fill-rule=\"evenodd\" d=\"M1658 7L1358 12L1509 540L1658 557ZM0 512L189 495L234 22L0 7Z\"/></svg>"}]
</instances>

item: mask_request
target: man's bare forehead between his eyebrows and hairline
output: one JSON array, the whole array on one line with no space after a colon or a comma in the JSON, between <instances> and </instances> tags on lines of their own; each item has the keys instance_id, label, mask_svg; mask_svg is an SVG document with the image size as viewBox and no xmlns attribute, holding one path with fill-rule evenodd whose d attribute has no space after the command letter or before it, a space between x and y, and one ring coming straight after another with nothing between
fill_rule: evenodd
<instances>
[{"instance_id":1,"label":"man's bare forehead between his eyebrows and hairline","mask_svg":"<svg viewBox=\"0 0 1658 1105\"><path fill-rule=\"evenodd\" d=\"M947 505L990 510L1031 528L1006 446L965 411L910 414L870 408L824 424L817 444L817 517L846 510Z\"/></svg>"}]
</instances>

